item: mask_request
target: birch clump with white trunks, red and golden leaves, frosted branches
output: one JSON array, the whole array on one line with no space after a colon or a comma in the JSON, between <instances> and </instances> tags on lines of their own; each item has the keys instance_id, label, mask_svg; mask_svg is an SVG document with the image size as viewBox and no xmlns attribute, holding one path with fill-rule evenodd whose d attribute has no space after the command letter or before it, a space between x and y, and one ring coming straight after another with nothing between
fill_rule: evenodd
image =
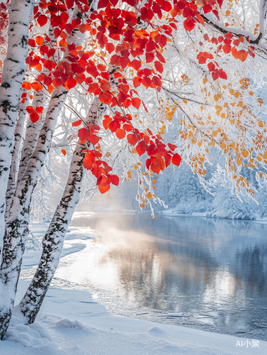
<instances>
[{"instance_id":1,"label":"birch clump with white trunks, red and golden leaves, frosted branches","mask_svg":"<svg viewBox=\"0 0 267 355\"><path fill-rule=\"evenodd\" d=\"M85 170L105 193L130 180L133 169L140 208L150 207L154 217L152 202L164 204L157 197L157 174L183 159L208 190L205 164L216 146L225 155L233 190L254 197L244 170L254 170L259 182L267 177L266 107L259 96L266 1L257 7L243 3L41 0L34 9L30 0L1 4L1 339L13 310L33 190L62 107L76 115L71 124L60 117L70 137L65 143L72 141L61 151L72 160L40 264L19 305L25 323L35 320L57 268ZM18 12L25 23L17 21ZM72 109L72 99L81 102L80 111ZM164 134L178 113L181 129L176 141L167 142ZM113 171L118 158L122 176Z\"/></svg>"}]
</instances>

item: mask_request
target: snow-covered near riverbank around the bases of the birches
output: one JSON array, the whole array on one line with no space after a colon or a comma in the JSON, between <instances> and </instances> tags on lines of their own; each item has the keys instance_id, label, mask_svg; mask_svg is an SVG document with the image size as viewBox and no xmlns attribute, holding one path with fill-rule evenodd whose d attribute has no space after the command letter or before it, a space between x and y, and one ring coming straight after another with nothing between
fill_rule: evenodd
<instances>
[{"instance_id":1,"label":"snow-covered near riverbank around the bases of the birches","mask_svg":"<svg viewBox=\"0 0 267 355\"><path fill-rule=\"evenodd\" d=\"M44 230L45 225L31 226L34 236ZM72 228L67 239L74 234L79 234L81 240L96 237L89 229ZM67 240L62 256L68 258L81 248L81 243L69 244ZM38 262L38 253L38 239L32 236L24 269ZM16 302L21 300L27 287L28 281L19 281ZM34 324L24 325L15 308L11 326L0 342L0 354L263 355L267 354L267 342L110 315L89 292L51 287Z\"/></svg>"}]
</instances>

